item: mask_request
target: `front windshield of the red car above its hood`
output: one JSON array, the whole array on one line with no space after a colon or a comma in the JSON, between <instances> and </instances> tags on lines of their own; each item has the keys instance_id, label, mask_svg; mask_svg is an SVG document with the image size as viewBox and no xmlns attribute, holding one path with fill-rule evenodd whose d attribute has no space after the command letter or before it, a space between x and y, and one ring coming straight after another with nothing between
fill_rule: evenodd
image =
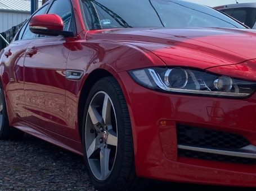
<instances>
[{"instance_id":1,"label":"front windshield of the red car above its hood","mask_svg":"<svg viewBox=\"0 0 256 191\"><path fill-rule=\"evenodd\" d=\"M128 27L245 28L213 8L177 0L82 0L89 30Z\"/></svg>"}]
</instances>

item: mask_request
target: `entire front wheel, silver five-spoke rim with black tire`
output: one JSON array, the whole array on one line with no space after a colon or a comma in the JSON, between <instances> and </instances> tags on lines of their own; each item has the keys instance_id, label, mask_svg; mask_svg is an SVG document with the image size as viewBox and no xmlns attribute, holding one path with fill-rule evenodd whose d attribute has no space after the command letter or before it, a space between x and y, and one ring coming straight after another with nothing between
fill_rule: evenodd
<instances>
[{"instance_id":1,"label":"entire front wheel, silver five-spoke rim with black tire","mask_svg":"<svg viewBox=\"0 0 256 191\"><path fill-rule=\"evenodd\" d=\"M146 180L134 166L131 120L122 89L114 77L92 87L83 117L84 159L98 190L141 190Z\"/></svg>"}]
</instances>

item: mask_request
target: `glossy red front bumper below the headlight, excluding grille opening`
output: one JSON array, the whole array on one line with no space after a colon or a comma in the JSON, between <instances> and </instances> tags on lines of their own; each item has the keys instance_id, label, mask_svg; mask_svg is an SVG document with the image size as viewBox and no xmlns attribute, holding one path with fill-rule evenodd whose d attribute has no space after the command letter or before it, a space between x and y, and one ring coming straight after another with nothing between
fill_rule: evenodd
<instances>
[{"instance_id":1,"label":"glossy red front bumper below the headlight, excluding grille opening","mask_svg":"<svg viewBox=\"0 0 256 191\"><path fill-rule=\"evenodd\" d=\"M256 165L179 157L177 124L236 133L256 146L256 95L248 99L164 94L118 73L131 117L136 171L151 179L256 187Z\"/></svg>"}]
</instances>

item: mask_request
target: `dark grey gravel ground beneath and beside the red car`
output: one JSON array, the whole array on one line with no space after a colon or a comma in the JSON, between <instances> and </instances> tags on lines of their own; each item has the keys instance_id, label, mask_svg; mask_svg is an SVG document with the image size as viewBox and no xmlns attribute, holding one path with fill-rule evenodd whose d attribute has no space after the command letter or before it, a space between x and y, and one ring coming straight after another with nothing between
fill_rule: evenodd
<instances>
[{"instance_id":1,"label":"dark grey gravel ground beneath and beside the red car","mask_svg":"<svg viewBox=\"0 0 256 191\"><path fill-rule=\"evenodd\" d=\"M209 189L204 185L155 181L150 190ZM95 190L83 158L29 135L0 141L0 190ZM249 189L243 189L249 190Z\"/></svg>"}]
</instances>

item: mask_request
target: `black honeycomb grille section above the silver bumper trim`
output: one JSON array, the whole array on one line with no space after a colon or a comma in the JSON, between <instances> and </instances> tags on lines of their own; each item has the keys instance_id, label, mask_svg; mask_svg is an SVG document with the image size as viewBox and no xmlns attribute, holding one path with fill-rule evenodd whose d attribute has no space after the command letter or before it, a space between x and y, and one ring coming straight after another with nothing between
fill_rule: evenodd
<instances>
[{"instance_id":1,"label":"black honeycomb grille section above the silver bumper trim","mask_svg":"<svg viewBox=\"0 0 256 191\"><path fill-rule=\"evenodd\" d=\"M177 125L178 145L217 149L238 149L250 145L248 139L239 134L213 129Z\"/></svg>"}]
</instances>

